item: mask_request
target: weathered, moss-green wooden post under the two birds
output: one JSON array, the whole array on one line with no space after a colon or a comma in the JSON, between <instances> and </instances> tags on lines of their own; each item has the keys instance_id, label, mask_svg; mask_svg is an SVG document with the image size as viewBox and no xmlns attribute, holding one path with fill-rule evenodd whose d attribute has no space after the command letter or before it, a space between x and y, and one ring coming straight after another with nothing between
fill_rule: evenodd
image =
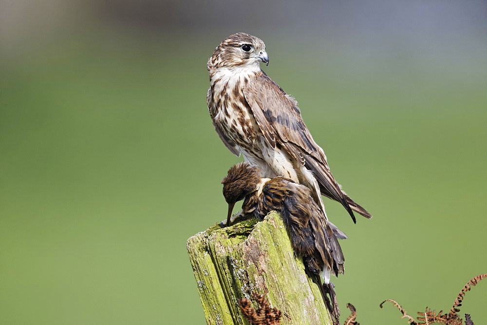
<instances>
[{"instance_id":1,"label":"weathered, moss-green wooden post under the two birds","mask_svg":"<svg viewBox=\"0 0 487 325\"><path fill-rule=\"evenodd\" d=\"M332 324L279 214L210 227L187 240L187 251L207 324L248 324L238 300L265 291L282 312L281 324Z\"/></svg>"}]
</instances>

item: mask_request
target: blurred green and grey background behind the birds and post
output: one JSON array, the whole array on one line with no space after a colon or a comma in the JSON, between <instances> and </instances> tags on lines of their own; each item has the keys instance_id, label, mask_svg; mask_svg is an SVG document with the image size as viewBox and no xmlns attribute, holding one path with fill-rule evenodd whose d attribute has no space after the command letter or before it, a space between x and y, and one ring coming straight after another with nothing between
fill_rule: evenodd
<instances>
[{"instance_id":1,"label":"blurred green and grey background behind the birds and post","mask_svg":"<svg viewBox=\"0 0 487 325\"><path fill-rule=\"evenodd\" d=\"M336 179L372 220L336 279L361 324L448 311L487 272L485 1L5 1L0 323L204 324L186 239L225 217L241 158L206 108L206 60L261 37ZM461 315L487 324L487 285Z\"/></svg>"}]
</instances>

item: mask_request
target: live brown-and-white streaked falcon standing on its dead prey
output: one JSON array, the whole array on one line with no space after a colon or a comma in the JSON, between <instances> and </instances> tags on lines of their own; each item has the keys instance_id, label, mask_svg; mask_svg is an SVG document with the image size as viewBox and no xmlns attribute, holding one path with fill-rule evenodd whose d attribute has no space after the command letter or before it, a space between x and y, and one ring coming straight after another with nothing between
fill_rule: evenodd
<instances>
[{"instance_id":1,"label":"live brown-and-white streaked falcon standing on its dead prey","mask_svg":"<svg viewBox=\"0 0 487 325\"><path fill-rule=\"evenodd\" d=\"M265 44L245 33L225 38L208 60L208 110L226 147L265 177L283 176L309 187L325 218L320 194L340 202L354 222L353 211L371 218L341 190L298 103L261 70L261 62L269 63Z\"/></svg>"}]
</instances>

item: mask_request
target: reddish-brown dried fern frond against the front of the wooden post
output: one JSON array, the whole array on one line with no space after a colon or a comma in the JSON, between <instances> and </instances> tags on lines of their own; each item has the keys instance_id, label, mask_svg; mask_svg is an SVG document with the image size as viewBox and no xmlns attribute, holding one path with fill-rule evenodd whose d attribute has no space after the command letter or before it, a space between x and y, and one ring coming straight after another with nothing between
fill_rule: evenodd
<instances>
[{"instance_id":1,"label":"reddish-brown dried fern frond against the front of the wooden post","mask_svg":"<svg viewBox=\"0 0 487 325\"><path fill-rule=\"evenodd\" d=\"M255 310L249 299L240 299L239 306L242 309L244 318L250 322L250 324L262 324L262 325L279 325L281 324L281 310L272 308L269 302L264 298L269 293L266 291L263 294L252 293L251 298L257 302L260 306Z\"/></svg>"}]
</instances>

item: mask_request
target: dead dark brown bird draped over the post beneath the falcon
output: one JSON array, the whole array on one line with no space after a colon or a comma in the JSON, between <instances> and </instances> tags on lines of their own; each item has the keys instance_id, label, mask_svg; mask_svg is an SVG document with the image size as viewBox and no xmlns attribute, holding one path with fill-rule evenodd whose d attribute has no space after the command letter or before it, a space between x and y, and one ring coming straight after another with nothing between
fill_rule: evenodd
<instances>
[{"instance_id":1,"label":"dead dark brown bird draped over the post beneath the falcon","mask_svg":"<svg viewBox=\"0 0 487 325\"><path fill-rule=\"evenodd\" d=\"M347 236L323 216L312 199L312 191L283 177L262 178L261 171L248 162L232 166L222 183L228 203L228 218L240 200L244 200L242 215L252 214L262 220L273 210L281 214L295 253L302 257L306 272L318 284L332 315L338 318L339 309L330 274L338 276L344 272L345 258L337 238L345 239ZM319 275L324 285L321 285Z\"/></svg>"}]
</instances>

